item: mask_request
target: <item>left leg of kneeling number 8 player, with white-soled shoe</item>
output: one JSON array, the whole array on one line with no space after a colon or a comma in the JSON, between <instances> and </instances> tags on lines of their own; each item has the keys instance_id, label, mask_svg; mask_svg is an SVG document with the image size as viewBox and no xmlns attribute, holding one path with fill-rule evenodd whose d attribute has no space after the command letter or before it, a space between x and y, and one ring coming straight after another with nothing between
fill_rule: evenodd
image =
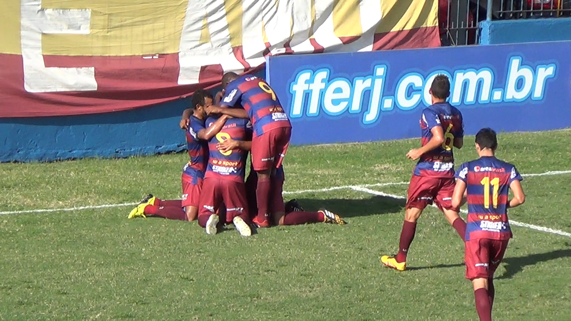
<instances>
[{"instance_id":1,"label":"left leg of kneeling number 8 player, with white-soled shoe","mask_svg":"<svg viewBox=\"0 0 571 321\"><path fill-rule=\"evenodd\" d=\"M222 196L220 195L219 179L206 178L202 184L202 194L198 206L198 224L206 230L206 234L218 232L220 218L216 212Z\"/></svg>"}]
</instances>

